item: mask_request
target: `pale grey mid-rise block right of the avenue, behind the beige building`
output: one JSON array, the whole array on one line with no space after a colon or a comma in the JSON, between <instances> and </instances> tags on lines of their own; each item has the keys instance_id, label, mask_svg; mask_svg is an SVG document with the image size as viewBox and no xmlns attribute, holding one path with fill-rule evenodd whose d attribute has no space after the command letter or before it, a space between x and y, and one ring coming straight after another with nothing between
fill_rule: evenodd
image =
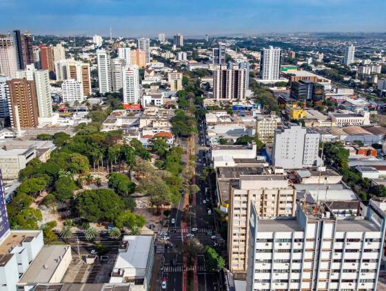
<instances>
[{"instance_id":1,"label":"pale grey mid-rise block right of the avenue, behind the beige building","mask_svg":"<svg viewBox=\"0 0 386 291\"><path fill-rule=\"evenodd\" d=\"M272 164L284 169L301 169L317 165L319 133L297 123L276 130Z\"/></svg>"}]
</instances>

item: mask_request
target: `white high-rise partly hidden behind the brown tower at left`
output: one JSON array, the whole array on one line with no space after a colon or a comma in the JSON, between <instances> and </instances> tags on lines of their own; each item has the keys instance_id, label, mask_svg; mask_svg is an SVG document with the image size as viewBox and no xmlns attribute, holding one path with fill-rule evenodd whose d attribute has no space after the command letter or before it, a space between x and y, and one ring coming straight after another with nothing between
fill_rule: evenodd
<instances>
[{"instance_id":1,"label":"white high-rise partly hidden behind the brown tower at left","mask_svg":"<svg viewBox=\"0 0 386 291\"><path fill-rule=\"evenodd\" d=\"M27 65L26 70L16 72L18 79L33 81L36 89L39 118L52 117L52 99L48 70L36 70L34 65Z\"/></svg>"}]
</instances>

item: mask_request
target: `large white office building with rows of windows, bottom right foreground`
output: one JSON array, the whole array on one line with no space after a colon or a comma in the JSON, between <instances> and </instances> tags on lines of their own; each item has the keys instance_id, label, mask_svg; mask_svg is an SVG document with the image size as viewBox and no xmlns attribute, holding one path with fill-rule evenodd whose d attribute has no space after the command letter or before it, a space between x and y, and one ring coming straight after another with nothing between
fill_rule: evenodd
<instances>
[{"instance_id":1,"label":"large white office building with rows of windows, bottom right foreground","mask_svg":"<svg viewBox=\"0 0 386 291\"><path fill-rule=\"evenodd\" d=\"M297 205L296 217L261 219L250 209L247 291L377 290L385 213L337 217L327 203Z\"/></svg>"}]
</instances>

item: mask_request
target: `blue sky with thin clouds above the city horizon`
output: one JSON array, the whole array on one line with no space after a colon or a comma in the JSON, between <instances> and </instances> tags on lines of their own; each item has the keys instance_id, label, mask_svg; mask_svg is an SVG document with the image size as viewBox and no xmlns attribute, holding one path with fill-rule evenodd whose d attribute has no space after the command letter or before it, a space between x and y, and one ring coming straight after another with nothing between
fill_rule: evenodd
<instances>
[{"instance_id":1,"label":"blue sky with thin clouds above the city horizon","mask_svg":"<svg viewBox=\"0 0 386 291\"><path fill-rule=\"evenodd\" d=\"M114 37L386 30L386 0L0 0L0 9L0 32L34 34L107 36L110 26Z\"/></svg>"}]
</instances>

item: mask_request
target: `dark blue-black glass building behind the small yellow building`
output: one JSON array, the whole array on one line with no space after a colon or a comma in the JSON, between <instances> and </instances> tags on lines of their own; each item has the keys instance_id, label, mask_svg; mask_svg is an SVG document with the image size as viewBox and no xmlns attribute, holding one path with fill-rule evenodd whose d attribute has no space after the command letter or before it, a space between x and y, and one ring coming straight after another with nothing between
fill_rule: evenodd
<instances>
[{"instance_id":1,"label":"dark blue-black glass building behind the small yellow building","mask_svg":"<svg viewBox=\"0 0 386 291\"><path fill-rule=\"evenodd\" d=\"M291 83L291 97L301 101L321 101L324 99L324 86L312 81L301 80Z\"/></svg>"}]
</instances>

